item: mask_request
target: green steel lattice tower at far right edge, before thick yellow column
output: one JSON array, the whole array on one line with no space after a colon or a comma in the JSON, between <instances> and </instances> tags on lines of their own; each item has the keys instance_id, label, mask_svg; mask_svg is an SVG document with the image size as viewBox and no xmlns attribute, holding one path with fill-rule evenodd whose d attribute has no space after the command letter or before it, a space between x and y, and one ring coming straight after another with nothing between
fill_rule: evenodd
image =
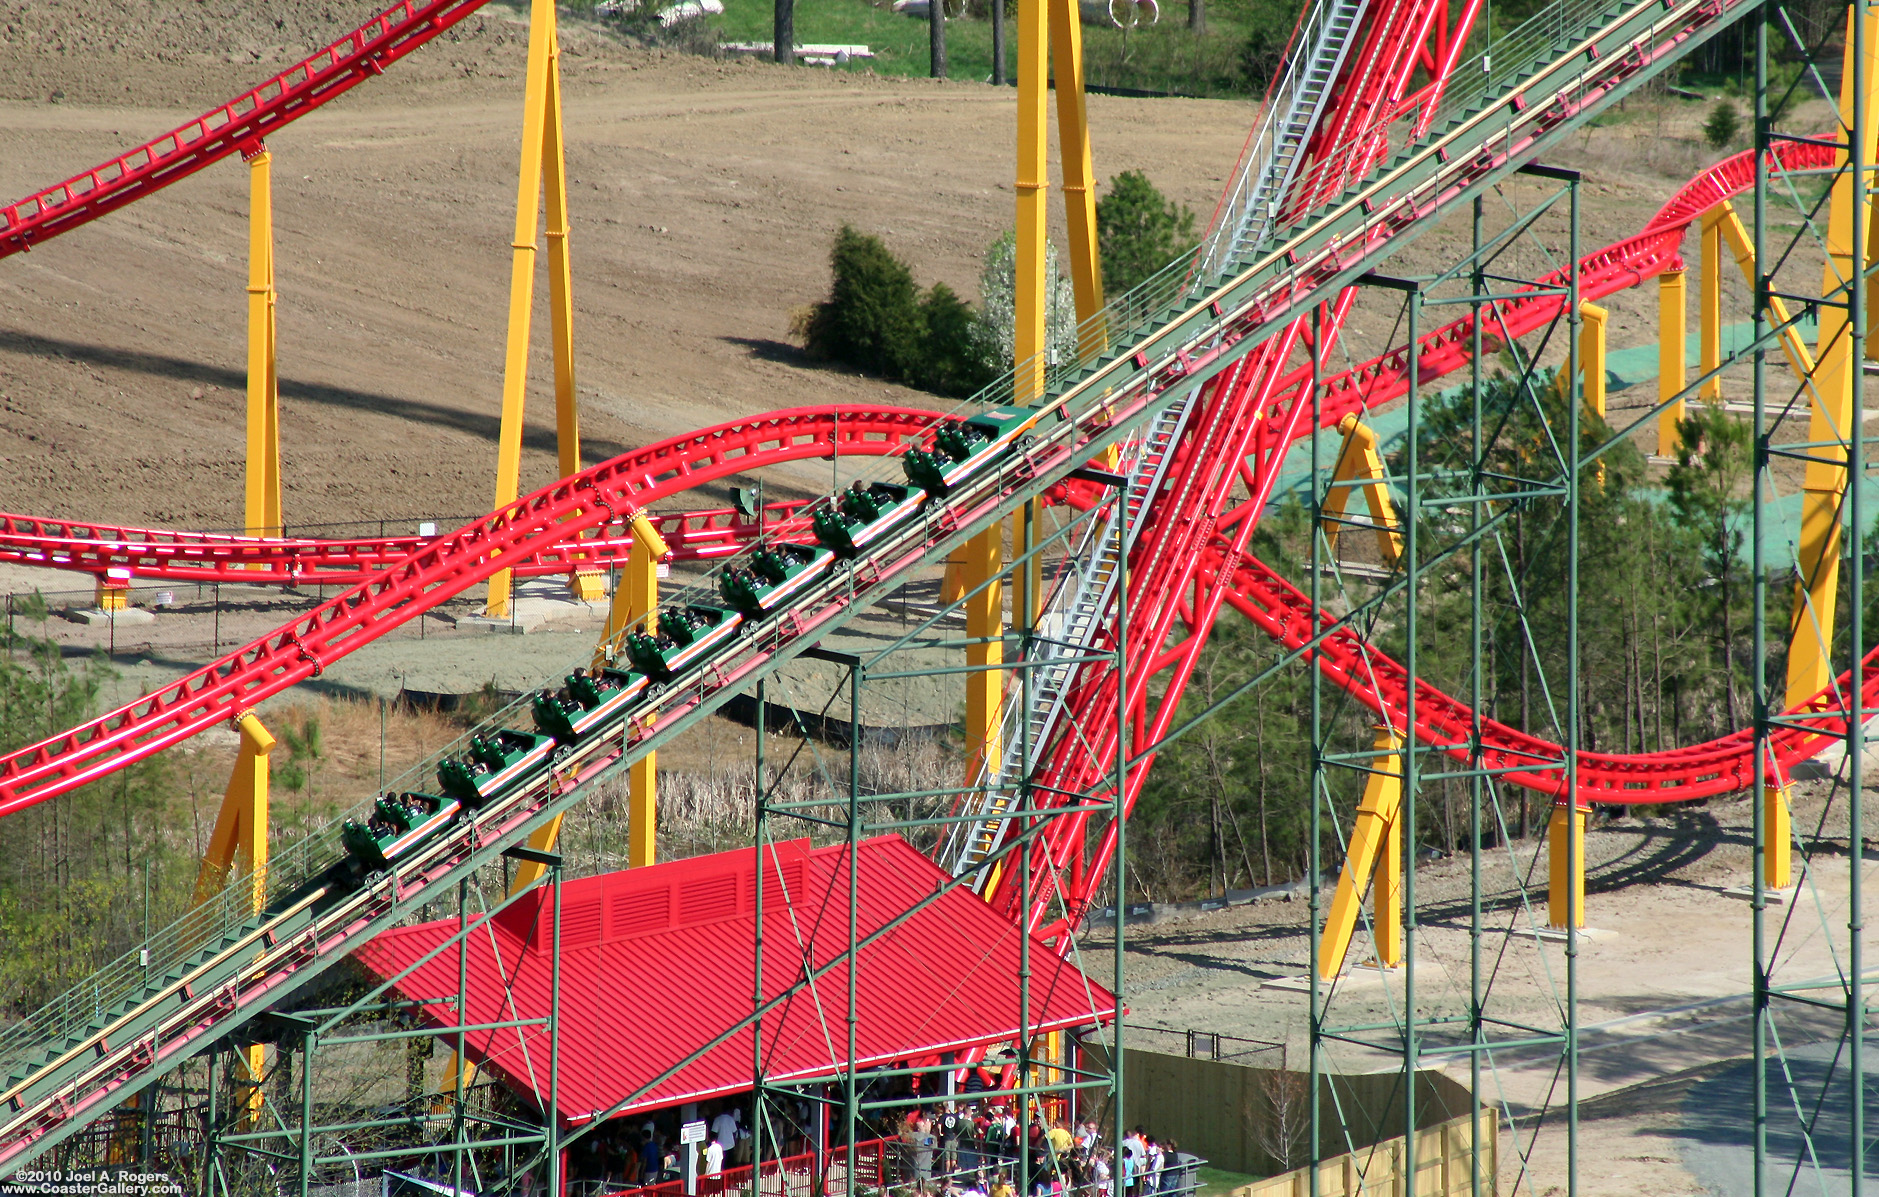
<instances>
[{"instance_id":1,"label":"green steel lattice tower at far right edge, before thick yellow column","mask_svg":"<svg viewBox=\"0 0 1879 1197\"><path fill-rule=\"evenodd\" d=\"M1772 130L1791 107L1791 88L1770 81L1770 24L1793 30L1789 15L1764 6L1755 23L1755 148L1764 156ZM1866 628L1870 528L1866 477L1870 472L1860 357L1871 344L1870 303L1873 291L1873 205L1871 171L1879 162L1879 9L1868 0L1847 4L1845 34L1838 47L1840 105L1834 130L1836 154L1826 195L1823 280L1813 308L1819 331L1813 368L1804 380L1808 428L1794 443L1785 428L1791 402L1768 396L1766 353L1753 355L1753 447L1755 481L1751 498L1749 552L1753 573L1753 650L1764 661L1778 645L1787 646L1787 678L1774 688L1763 669L1751 671L1755 710L1755 754L1763 761L1763 802L1753 806L1755 872L1749 885L1753 908L1751 953L1755 977L1753 1020L1753 1107L1746 1111L1746 1137L1753 1144L1757 1191L1851 1191L1862 1193L1871 1180L1868 1103L1868 1035L1871 1034L1871 987L1868 928L1864 919L1866 857L1866 722L1871 710L1860 703L1866 684ZM1789 32L1789 41L1796 41ZM1817 71L1811 58L1832 53L1825 45L1796 47L1804 70ZM1768 171L1757 171L1751 212L1751 248L1763 263L1793 250L1774 242L1770 216L1776 212L1770 190L1778 186ZM1813 222L1808 222L1815 227ZM1815 227L1815 235L1819 231ZM1811 265L1811 263L1809 263ZM1794 288L1787 288L1793 295ZM1779 323L1779 295L1774 271L1763 267L1755 280L1755 344L1768 340ZM1778 466L1793 470L1802 462L1802 521L1793 575L1764 560L1766 541L1776 536ZM1855 468L1856 462L1856 468ZM1851 536L1845 545L1841 537ZM1841 564L1843 562L1843 564ZM1772 607L1789 598L1787 626ZM1845 603L1845 635L1836 635L1838 605ZM1838 660L1836 660L1838 658ZM1841 708L1845 750L1843 774L1830 785L1826 810L1817 817L1813 840L1794 868L1791 853L1791 789L1774 769L1770 737L1781 727L1781 712L1811 701L1834 682L1838 669L1849 669L1845 690L1828 701ZM1832 823L1828 821L1832 817ZM1845 849L1834 823L1843 819ZM1825 842L1823 842L1825 840ZM1843 883L1834 874L1845 861ZM1781 893L1787 889L1787 893ZM1825 938L1830 972L1819 975L1819 962L1794 960L1794 940ZM1796 975L1800 973L1800 975ZM1802 1022L1811 1018L1813 1022ZM1838 1026L1832 1026L1832 1020ZM1796 1028L1798 1024L1798 1028ZM1798 1034L1796 1034L1798 1030ZM1796 1060L1796 1041L1826 1035L1811 1050L1823 1050L1809 1064Z\"/></svg>"}]
</instances>

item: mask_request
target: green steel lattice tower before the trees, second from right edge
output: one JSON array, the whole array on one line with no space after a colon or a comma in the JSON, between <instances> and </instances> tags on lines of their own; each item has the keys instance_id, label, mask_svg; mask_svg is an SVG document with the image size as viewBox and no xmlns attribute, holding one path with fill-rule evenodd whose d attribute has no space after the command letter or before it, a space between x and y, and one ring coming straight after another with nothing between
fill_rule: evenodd
<instances>
[{"instance_id":1,"label":"green steel lattice tower before the trees, second from right edge","mask_svg":"<svg viewBox=\"0 0 1879 1197\"><path fill-rule=\"evenodd\" d=\"M1563 225L1558 233L1565 242L1567 261L1578 261L1578 177L1571 171L1535 167L1530 173L1560 182L1560 197L1565 210L1552 216L1554 225ZM1556 197L1558 199L1558 197ZM1561 220L1563 216L1563 220ZM1501 795L1494 770L1483 765L1483 710L1486 697L1486 663L1490 660L1488 630L1484 607L1488 605L1488 583L1501 573L1498 547L1499 528L1513 511L1533 513L1541 507L1558 522L1554 534L1567 541L1565 560L1569 562L1561 601L1569 613L1576 611L1576 528L1582 479L1595 477L1597 455L1565 451L1558 460L1550 460L1545 470L1535 470L1535 477L1511 477L1505 466L1494 462L1498 447L1498 428L1505 415L1488 410L1488 376L1483 372L1483 325L1492 329L1496 306L1494 291L1505 289L1501 284L1513 282L1492 274L1496 259L1505 252L1501 239L1484 239L1484 209L1475 205L1475 250L1467 259L1451 267L1436 278L1379 278L1368 276L1364 282L1381 297L1385 289L1394 291L1392 299L1404 304L1404 323L1409 344L1417 344L1422 325L1422 310L1432 303L1469 303L1475 312L1473 333L1473 374L1471 389L1458 398L1445 402L1462 404L1458 415L1443 425L1445 436L1424 440L1422 432L1422 395L1419 393L1415 363L1407 363L1405 378L1409 395L1405 400L1407 428L1400 455L1389 468L1389 481L1404 498L1400 511L1402 551L1394 562L1394 571L1377 584L1368 598L1338 596L1342 607L1362 607L1370 613L1374 635L1385 635L1396 646L1398 660L1409 676L1419 675L1424 650L1436 645L1436 631L1426 630L1426 620L1434 590L1439 586L1467 588L1466 633L1454 618L1445 618L1441 628L1441 648L1445 656L1454 656L1454 643L1462 641L1464 658L1460 661L1437 658L1439 667L1467 678L1473 701L1473 729L1466 744L1415 742L1405 729L1417 725L1419 688L1409 686L1400 699L1385 708L1387 723L1375 729L1374 742L1362 750L1338 752L1336 742L1357 735L1345 716L1338 718L1338 708L1328 701L1323 673L1310 671L1310 710L1312 710L1312 859L1310 876L1321 876L1325 844L1342 840L1343 872L1338 887L1327 904L1313 885L1312 893L1312 956L1310 973L1310 1062L1312 1062L1312 1129L1308 1143L1313 1144L1313 1163L1334 1154L1327 1139L1336 1141L1336 1126L1342 1120L1332 1097L1325 1096L1325 1077L1338 1071L1390 1071L1400 1077L1394 1090L1400 1122L1394 1135L1402 1135L1400 1176L1426 1176L1424 1167L1434 1161L1419 1161L1417 1127L1424 1094L1424 1080L1419 1073L1447 1060L1454 1052L1467 1056L1467 1079L1471 1097L1473 1126L1492 1124L1501 1116L1496 1105L1494 1049L1518 1041L1524 1050L1558 1050L1563 1094L1541 1101L1548 1127L1558 1120L1558 1133L1565 1141L1563 1191L1578 1191L1578 1133L1576 1133L1576 1050L1578 1050L1578 953L1580 925L1584 921L1582 868L1571 870L1567 883L1558 887L1560 906L1556 919L1563 926L1563 992L1558 992L1558 1028L1518 1026L1494 1017L1490 988L1496 972L1496 953L1507 934L1520 934L1513 926L1490 926L1492 915L1486 909L1484 894L1492 891L1486 868L1496 853L1496 840L1507 834L1507 819L1501 814ZM1514 218L1520 222L1520 218ZM1535 227L1520 233L1522 239L1539 237ZM1462 297L1443 297L1441 289L1467 286ZM1520 374L1513 380L1516 398L1526 413L1545 421L1546 436L1558 445L1582 445L1582 427L1597 415L1599 381L1603 381L1603 312L1580 301L1578 278L1573 274L1563 288L1561 316L1565 363L1552 387L1535 366L1539 350L1509 346L1516 355ZM1548 338L1552 333L1546 334ZM1313 368L1313 415L1319 406L1317 370ZM1554 389L1558 387L1558 389ZM1503 396L1499 402L1507 402ZM1336 584L1334 569L1325 567L1334 552L1330 537L1332 511L1342 507L1338 487L1343 474L1342 453L1336 468L1323 470L1325 455L1319 447L1323 436L1313 436L1312 462L1317 483L1312 490L1312 554L1310 554L1310 601L1317 624L1334 624L1343 614L1332 614L1332 596L1323 590ZM1447 453L1447 457L1424 457L1426 453ZM1379 462L1385 464L1385 462ZM1535 517L1537 519L1537 517ZM1514 601L1524 601L1514 594ZM1460 635L1458 635L1460 633ZM1524 650L1524 646L1509 646ZM1563 752L1546 763L1561 787L1575 793L1576 754L1578 754L1578 630L1576 616L1571 618L1565 635L1565 676L1552 686L1556 710L1554 731ZM1449 759L1456 748L1466 748L1466 763ZM1362 778L1362 793L1355 812L1347 802L1357 778ZM1441 827L1428 821L1430 802L1436 795L1464 785L1467 793L1466 849L1469 857L1469 898L1467 898L1467 947L1466 960L1458 960L1452 949L1445 949L1445 940L1428 936L1419 923L1422 911L1417 902L1419 853ZM1426 831L1419 831L1419 825ZM1518 834L1518 832L1514 832ZM1563 861L1584 859L1584 819L1565 817L1548 832L1550 853ZM1460 847L1460 846L1454 846ZM1524 851L1524 849L1522 849ZM1561 855L1563 853L1563 855ZM1372 879L1374 874L1374 879ZM1377 962L1385 966L1377 996L1377 981L1364 981L1362 987L1342 973L1342 962L1355 925L1360 917L1362 887L1370 883L1375 900L1372 915L1372 941ZM1524 885L1518 874L1516 885ZM1526 904L1520 904L1526 909ZM1449 926L1460 930L1460 923L1451 915ZM1539 932L1530 926L1528 936ZM1531 940L1528 940L1531 943ZM1449 940L1447 943L1452 943ZM1558 951L1537 947L1528 951ZM1355 1060L1345 1060L1355 1054ZM1342 1067L1340 1067L1342 1065ZM1563 1101L1561 1101L1563 1097ZM1451 1111L1458 1114L1460 1111ZM1524 1159L1531 1154L1531 1144L1516 1135L1522 1163L1518 1171L1501 1173L1496 1182L1492 1174L1494 1156L1484 1135L1475 1135L1469 1148L1473 1174L1479 1176L1479 1191L1528 1191L1539 1186L1526 1173ZM1312 1169L1310 1174L1317 1173ZM1313 1178L1315 1180L1315 1178ZM1561 1178L1548 1176L1548 1182ZM1374 1184L1375 1180L1370 1180ZM1424 1180L1402 1180L1404 1191L1421 1188ZM1467 1191L1467 1174L1451 1180L1456 1191Z\"/></svg>"}]
</instances>

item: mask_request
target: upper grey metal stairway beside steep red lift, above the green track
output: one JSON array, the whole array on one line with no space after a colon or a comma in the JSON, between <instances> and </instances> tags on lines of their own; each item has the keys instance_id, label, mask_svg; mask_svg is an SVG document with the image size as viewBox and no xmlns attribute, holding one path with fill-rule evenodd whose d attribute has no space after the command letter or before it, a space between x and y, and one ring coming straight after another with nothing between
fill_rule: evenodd
<instances>
[{"instance_id":1,"label":"upper grey metal stairway beside steep red lift, above the green track","mask_svg":"<svg viewBox=\"0 0 1879 1197\"><path fill-rule=\"evenodd\" d=\"M1251 254L1278 224L1304 147L1317 128L1330 86L1355 45L1368 0L1317 0L1300 30L1302 54L1285 66L1278 92L1246 154L1233 197L1208 235L1203 276L1212 278Z\"/></svg>"}]
</instances>

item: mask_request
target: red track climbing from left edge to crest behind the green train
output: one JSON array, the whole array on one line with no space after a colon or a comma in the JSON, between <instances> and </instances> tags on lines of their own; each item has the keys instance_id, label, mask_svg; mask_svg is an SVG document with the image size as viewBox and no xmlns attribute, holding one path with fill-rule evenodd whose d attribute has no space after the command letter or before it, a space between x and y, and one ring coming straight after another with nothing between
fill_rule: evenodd
<instances>
[{"instance_id":1,"label":"red track climbing from left edge to crest behind the green train","mask_svg":"<svg viewBox=\"0 0 1879 1197\"><path fill-rule=\"evenodd\" d=\"M51 740L0 755L0 816L68 793L280 693L504 564L705 481L787 460L898 453L934 413L799 408L660 442L556 481L470 522L287 626Z\"/></svg>"}]
</instances>

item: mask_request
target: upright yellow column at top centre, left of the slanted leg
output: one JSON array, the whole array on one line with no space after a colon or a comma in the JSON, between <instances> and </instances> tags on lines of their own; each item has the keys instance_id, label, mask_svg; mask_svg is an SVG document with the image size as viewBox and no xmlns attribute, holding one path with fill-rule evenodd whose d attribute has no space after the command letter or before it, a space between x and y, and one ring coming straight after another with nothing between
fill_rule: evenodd
<instances>
[{"instance_id":1,"label":"upright yellow column at top centre, left of the slanted leg","mask_svg":"<svg viewBox=\"0 0 1879 1197\"><path fill-rule=\"evenodd\" d=\"M1050 293L1045 278L1045 225L1048 205L1048 175L1045 145L1048 137L1050 38L1045 0L1018 0L1018 244L1017 244L1017 329L1013 334L1013 365L1017 381L1013 396L1026 404L1045 393L1045 303ZM977 584L977 583L973 583Z\"/></svg>"}]
</instances>

